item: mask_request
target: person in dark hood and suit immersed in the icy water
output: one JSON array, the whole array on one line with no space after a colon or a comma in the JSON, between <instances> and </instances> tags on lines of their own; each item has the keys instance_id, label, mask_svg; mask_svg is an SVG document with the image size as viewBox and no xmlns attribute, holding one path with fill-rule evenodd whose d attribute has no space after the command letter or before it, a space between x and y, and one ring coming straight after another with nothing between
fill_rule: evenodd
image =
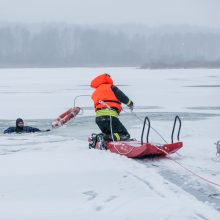
<instances>
[{"instance_id":1,"label":"person in dark hood and suit immersed in the icy water","mask_svg":"<svg viewBox=\"0 0 220 220\"><path fill-rule=\"evenodd\" d=\"M46 131L50 131L49 129ZM10 133L33 133L33 132L42 132L42 130L30 126L24 126L24 121L21 118L16 120L16 127L9 127L4 131L4 134Z\"/></svg>"}]
</instances>

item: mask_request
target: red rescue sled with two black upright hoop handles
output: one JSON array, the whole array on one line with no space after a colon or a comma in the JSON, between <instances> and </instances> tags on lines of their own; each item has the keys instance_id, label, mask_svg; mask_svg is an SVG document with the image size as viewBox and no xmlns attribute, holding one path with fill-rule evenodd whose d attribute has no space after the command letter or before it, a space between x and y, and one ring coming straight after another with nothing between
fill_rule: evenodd
<instances>
[{"instance_id":1,"label":"red rescue sled with two black upright hoop handles","mask_svg":"<svg viewBox=\"0 0 220 220\"><path fill-rule=\"evenodd\" d=\"M179 130L177 134L178 142L173 142L173 135L175 131L175 126L177 120L179 121ZM145 124L146 121L148 121L148 131L147 131L147 137L146 142L143 141L143 135L145 130ZM179 142L179 134L181 129L181 120L179 116L175 117L172 135L171 135L171 144L151 144L148 142L149 132L150 132L150 120L148 117L145 117L144 120L144 126L142 129L142 135L141 135L141 141L131 140L131 141L111 141L111 142L105 142L105 146L107 147L107 150L111 151L112 153L117 153L120 155L125 155L129 158L141 158L141 157L147 157L147 156L166 156L168 154L175 153L178 151L181 147L183 147L183 143ZM97 142L96 147L100 149L100 144Z\"/></svg>"}]
</instances>

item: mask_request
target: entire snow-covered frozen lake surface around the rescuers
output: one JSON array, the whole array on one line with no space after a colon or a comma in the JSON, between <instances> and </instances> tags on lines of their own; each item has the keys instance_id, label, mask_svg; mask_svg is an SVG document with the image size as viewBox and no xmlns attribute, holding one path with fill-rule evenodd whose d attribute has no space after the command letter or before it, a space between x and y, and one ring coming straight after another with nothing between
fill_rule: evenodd
<instances>
[{"instance_id":1,"label":"entire snow-covered frozen lake surface around the rescuers","mask_svg":"<svg viewBox=\"0 0 220 220\"><path fill-rule=\"evenodd\" d=\"M93 90L89 83L103 72L109 73L135 103L135 114L125 108L120 117L132 137L140 139L142 121L139 118L148 116L152 126L170 142L173 119L179 115L184 147L172 157L207 180L220 183L220 163L215 160L214 145L220 140L220 70L0 69L0 178L3 179L0 217L146 219L152 213L143 209L145 203L152 212L162 207L154 219L218 219L219 187L199 179L173 161L131 160L88 150L88 136L99 132L94 122L89 97ZM76 105L83 108L83 114L67 126L41 134L2 134L7 127L14 126L18 117L29 126L49 128L53 118L74 105L76 96L80 96ZM163 143L153 131L150 141ZM84 179L85 174L90 178ZM100 185L103 176L106 182ZM38 194L34 193L35 188ZM133 193L139 198L134 198ZM108 205L105 201L109 201ZM26 206L38 214L33 217L31 211L19 210ZM14 207L14 214L10 213L10 207ZM58 207L64 211L58 211ZM142 207L140 213L137 207ZM179 216L179 207L188 211Z\"/></svg>"}]
</instances>

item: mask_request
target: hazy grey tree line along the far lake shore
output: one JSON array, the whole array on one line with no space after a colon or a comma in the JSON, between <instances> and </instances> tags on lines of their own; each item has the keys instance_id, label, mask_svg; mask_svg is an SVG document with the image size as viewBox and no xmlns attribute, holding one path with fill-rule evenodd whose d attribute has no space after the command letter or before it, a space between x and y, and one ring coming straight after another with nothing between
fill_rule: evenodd
<instances>
[{"instance_id":1,"label":"hazy grey tree line along the far lake shore","mask_svg":"<svg viewBox=\"0 0 220 220\"><path fill-rule=\"evenodd\" d=\"M0 67L219 67L220 31L0 25Z\"/></svg>"}]
</instances>

